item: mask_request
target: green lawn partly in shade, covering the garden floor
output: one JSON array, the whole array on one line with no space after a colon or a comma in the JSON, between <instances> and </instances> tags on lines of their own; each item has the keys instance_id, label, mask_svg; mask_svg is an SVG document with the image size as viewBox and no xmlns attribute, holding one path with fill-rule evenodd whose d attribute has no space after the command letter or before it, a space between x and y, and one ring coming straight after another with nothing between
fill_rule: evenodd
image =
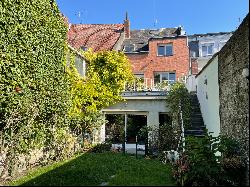
<instances>
[{"instance_id":1,"label":"green lawn partly in shade, covering the garden floor","mask_svg":"<svg viewBox=\"0 0 250 187\"><path fill-rule=\"evenodd\" d=\"M31 171L8 185L25 186L173 186L169 165L120 153L85 153Z\"/></svg>"}]
</instances>

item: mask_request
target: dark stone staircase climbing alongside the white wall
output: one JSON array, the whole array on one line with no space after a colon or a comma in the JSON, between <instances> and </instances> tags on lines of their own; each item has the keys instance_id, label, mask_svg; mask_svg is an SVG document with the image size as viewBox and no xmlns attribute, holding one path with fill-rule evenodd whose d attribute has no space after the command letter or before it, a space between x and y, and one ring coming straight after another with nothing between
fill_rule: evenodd
<instances>
[{"instance_id":1,"label":"dark stone staircase climbing alongside the white wall","mask_svg":"<svg viewBox=\"0 0 250 187\"><path fill-rule=\"evenodd\" d=\"M197 98L196 93L191 93L191 127L185 129L184 135L185 136L196 136L196 137L203 137L205 134L205 125L203 122L203 118L201 115L200 104Z\"/></svg>"}]
</instances>

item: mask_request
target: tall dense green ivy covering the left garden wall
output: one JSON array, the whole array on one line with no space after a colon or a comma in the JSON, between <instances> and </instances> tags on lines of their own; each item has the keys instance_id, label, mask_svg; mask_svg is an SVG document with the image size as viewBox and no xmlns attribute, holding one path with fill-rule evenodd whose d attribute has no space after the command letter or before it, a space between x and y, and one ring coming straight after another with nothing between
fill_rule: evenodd
<instances>
[{"instance_id":1,"label":"tall dense green ivy covering the left garden wall","mask_svg":"<svg viewBox=\"0 0 250 187\"><path fill-rule=\"evenodd\" d=\"M0 1L0 132L6 167L42 148L59 158L68 132L67 28L53 0Z\"/></svg>"}]
</instances>

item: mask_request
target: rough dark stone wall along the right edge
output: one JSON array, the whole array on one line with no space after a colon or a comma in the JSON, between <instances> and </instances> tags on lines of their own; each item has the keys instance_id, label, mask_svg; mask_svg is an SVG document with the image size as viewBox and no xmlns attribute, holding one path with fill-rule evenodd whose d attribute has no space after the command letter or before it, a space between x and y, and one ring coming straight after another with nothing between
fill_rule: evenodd
<instances>
[{"instance_id":1,"label":"rough dark stone wall along the right edge","mask_svg":"<svg viewBox=\"0 0 250 187\"><path fill-rule=\"evenodd\" d=\"M218 58L221 133L240 140L249 160L249 14ZM249 185L249 184L248 184Z\"/></svg>"}]
</instances>

